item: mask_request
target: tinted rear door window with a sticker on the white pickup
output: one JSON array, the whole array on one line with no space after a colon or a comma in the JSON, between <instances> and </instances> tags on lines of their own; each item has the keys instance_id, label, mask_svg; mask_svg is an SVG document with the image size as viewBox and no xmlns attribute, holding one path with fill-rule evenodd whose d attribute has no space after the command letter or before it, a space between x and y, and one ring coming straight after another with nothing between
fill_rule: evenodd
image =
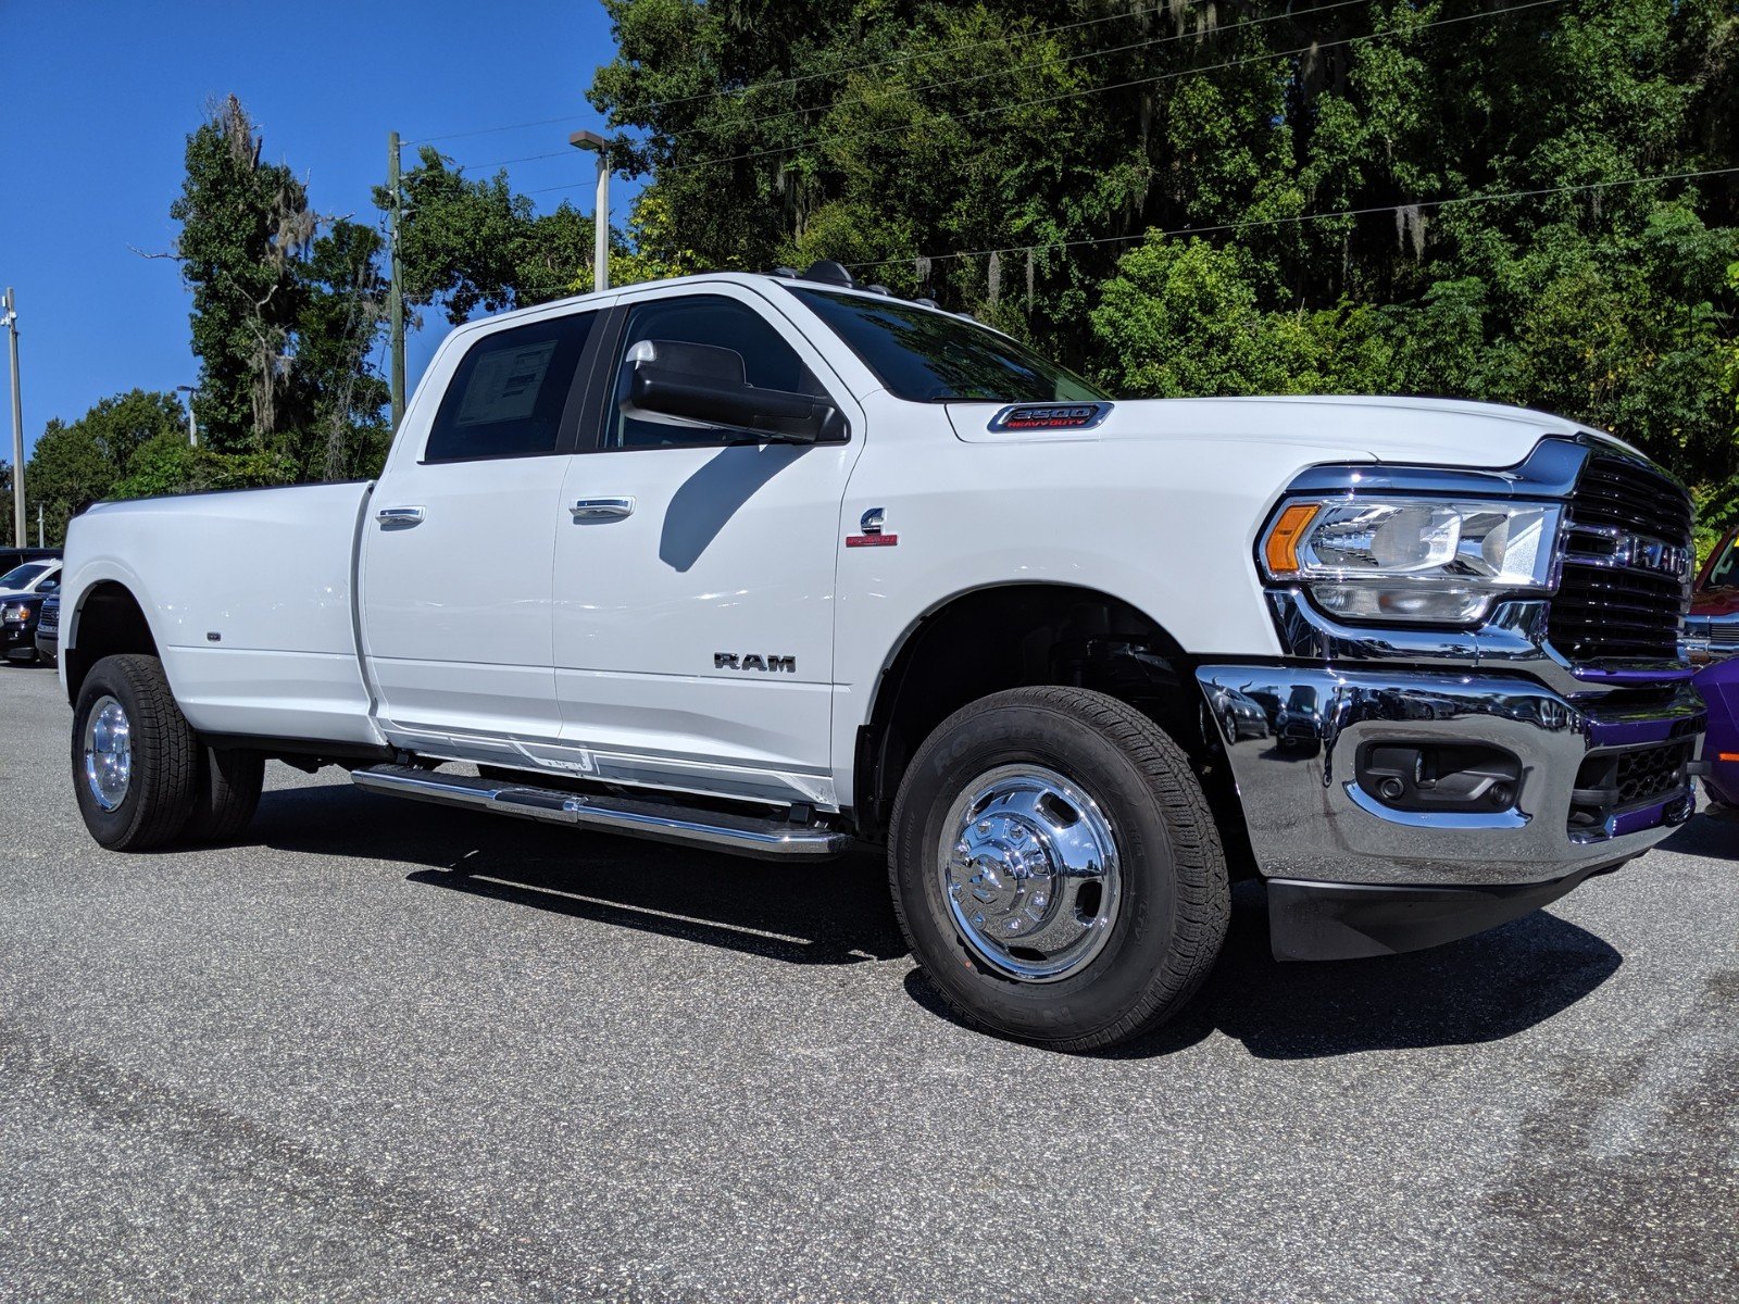
<instances>
[{"instance_id":1,"label":"tinted rear door window with a sticker on the white pickup","mask_svg":"<svg viewBox=\"0 0 1739 1304\"><path fill-rule=\"evenodd\" d=\"M476 341L440 400L423 461L555 452L574 372L596 316L556 316Z\"/></svg>"}]
</instances>

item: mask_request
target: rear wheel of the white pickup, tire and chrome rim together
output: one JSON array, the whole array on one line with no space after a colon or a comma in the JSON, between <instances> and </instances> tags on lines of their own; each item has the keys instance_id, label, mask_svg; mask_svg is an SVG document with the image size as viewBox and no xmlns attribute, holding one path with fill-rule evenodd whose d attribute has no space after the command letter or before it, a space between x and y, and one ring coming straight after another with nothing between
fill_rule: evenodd
<instances>
[{"instance_id":1,"label":"rear wheel of the white pickup, tire and chrome rim together","mask_svg":"<svg viewBox=\"0 0 1739 1304\"><path fill-rule=\"evenodd\" d=\"M73 789L99 843L139 852L174 842L193 814L198 744L157 657L103 657L73 708Z\"/></svg>"}]
</instances>

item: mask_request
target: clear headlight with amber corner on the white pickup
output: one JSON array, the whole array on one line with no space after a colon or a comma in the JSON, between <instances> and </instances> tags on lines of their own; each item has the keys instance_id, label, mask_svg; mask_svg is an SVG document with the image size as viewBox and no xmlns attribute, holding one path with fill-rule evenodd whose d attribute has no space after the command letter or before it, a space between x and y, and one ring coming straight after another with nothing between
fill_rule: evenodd
<instances>
[{"instance_id":1,"label":"clear headlight with amber corner on the white pickup","mask_svg":"<svg viewBox=\"0 0 1739 1304\"><path fill-rule=\"evenodd\" d=\"M1294 501L1263 537L1263 569L1348 621L1469 624L1499 595L1551 584L1558 515L1551 502Z\"/></svg>"}]
</instances>

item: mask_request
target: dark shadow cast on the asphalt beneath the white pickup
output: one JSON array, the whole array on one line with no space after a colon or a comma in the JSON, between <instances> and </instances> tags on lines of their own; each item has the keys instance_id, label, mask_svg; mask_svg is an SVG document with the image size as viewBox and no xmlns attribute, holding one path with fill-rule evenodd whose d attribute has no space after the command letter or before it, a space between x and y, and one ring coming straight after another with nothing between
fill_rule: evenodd
<instances>
[{"instance_id":1,"label":"dark shadow cast on the asphalt beneath the white pickup","mask_svg":"<svg viewBox=\"0 0 1739 1304\"><path fill-rule=\"evenodd\" d=\"M346 786L268 793L252 838L277 850L414 864L410 883L795 965L906 955L875 852L821 866L769 864ZM1621 963L1600 937L1536 911L1414 955L1283 965L1268 949L1263 890L1243 883L1202 993L1155 1036L1106 1057L1169 1055L1214 1031L1263 1059L1497 1041L1582 1000ZM920 970L906 977L906 991L958 1022Z\"/></svg>"}]
</instances>

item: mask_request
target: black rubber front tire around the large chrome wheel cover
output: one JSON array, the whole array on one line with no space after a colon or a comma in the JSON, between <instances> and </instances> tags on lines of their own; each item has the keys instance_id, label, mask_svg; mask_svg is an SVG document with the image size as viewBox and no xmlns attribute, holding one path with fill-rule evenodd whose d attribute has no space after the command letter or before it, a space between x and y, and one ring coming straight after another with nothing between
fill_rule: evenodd
<instances>
[{"instance_id":1,"label":"black rubber front tire around the large chrome wheel cover","mask_svg":"<svg viewBox=\"0 0 1739 1304\"><path fill-rule=\"evenodd\" d=\"M1101 949L1050 981L986 963L941 878L951 808L976 781L1021 765L1090 796L1118 857L1120 904ZM906 941L949 1007L1056 1050L1103 1050L1165 1022L1214 967L1231 916L1219 831L1188 756L1132 706L1085 689L1010 689L944 720L901 782L889 882Z\"/></svg>"}]
</instances>

